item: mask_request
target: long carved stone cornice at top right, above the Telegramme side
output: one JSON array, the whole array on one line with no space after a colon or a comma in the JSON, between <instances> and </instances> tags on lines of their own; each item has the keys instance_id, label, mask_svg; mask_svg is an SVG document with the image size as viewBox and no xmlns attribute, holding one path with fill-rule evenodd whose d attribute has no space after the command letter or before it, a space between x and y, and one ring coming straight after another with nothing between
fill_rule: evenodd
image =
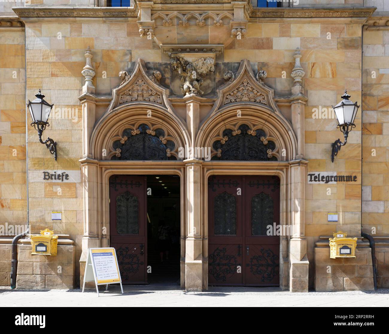
<instances>
[{"instance_id":1,"label":"long carved stone cornice at top right, above the Telegramme side","mask_svg":"<svg viewBox=\"0 0 389 334\"><path fill-rule=\"evenodd\" d=\"M252 18L366 18L370 17L376 7L361 8L254 8Z\"/></svg>"}]
</instances>

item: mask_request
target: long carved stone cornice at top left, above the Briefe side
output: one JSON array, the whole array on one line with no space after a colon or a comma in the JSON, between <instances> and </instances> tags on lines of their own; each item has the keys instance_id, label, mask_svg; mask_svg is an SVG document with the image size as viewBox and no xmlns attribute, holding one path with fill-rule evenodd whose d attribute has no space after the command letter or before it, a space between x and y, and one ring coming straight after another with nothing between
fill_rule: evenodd
<instances>
[{"instance_id":1,"label":"long carved stone cornice at top left, above the Briefe side","mask_svg":"<svg viewBox=\"0 0 389 334\"><path fill-rule=\"evenodd\" d=\"M135 7L12 7L19 18L136 18Z\"/></svg>"}]
</instances>

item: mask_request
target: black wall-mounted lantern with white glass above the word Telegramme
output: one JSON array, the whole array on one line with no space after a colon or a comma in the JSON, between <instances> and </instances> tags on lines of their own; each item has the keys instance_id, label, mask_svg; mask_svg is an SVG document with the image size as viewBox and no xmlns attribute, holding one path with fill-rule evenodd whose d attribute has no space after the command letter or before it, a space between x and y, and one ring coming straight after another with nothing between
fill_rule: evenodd
<instances>
[{"instance_id":1,"label":"black wall-mounted lantern with white glass above the word Telegramme","mask_svg":"<svg viewBox=\"0 0 389 334\"><path fill-rule=\"evenodd\" d=\"M349 100L350 95L347 94L347 90L344 91L344 95L342 96L342 98L343 100L341 102L335 105L335 107L332 107L335 111L336 118L338 119L338 125L336 125L336 127L340 128L340 131L343 132L344 142L341 142L340 139L338 139L331 144L332 162L334 162L334 157L338 155L340 148L347 143L347 137L349 137L349 132L352 130L352 128L355 128L354 120L359 108L357 102L353 103Z\"/></svg>"}]
</instances>

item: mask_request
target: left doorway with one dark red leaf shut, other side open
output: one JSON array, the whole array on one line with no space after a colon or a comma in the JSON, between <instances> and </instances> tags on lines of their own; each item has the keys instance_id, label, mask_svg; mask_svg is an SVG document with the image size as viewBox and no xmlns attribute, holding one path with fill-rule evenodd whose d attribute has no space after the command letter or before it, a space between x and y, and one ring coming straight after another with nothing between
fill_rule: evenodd
<instances>
[{"instance_id":1,"label":"left doorway with one dark red leaf shut, other side open","mask_svg":"<svg viewBox=\"0 0 389 334\"><path fill-rule=\"evenodd\" d=\"M180 284L180 177L112 175L110 246L124 284Z\"/></svg>"}]
</instances>

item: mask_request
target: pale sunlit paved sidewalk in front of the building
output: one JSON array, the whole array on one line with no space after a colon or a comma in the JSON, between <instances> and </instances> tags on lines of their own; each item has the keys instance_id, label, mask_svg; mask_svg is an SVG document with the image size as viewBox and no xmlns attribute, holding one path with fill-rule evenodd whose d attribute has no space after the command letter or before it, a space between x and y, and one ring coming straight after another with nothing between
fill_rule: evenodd
<instances>
[{"instance_id":1,"label":"pale sunlit paved sidewalk in front of the building","mask_svg":"<svg viewBox=\"0 0 389 334\"><path fill-rule=\"evenodd\" d=\"M0 307L32 306L308 306L380 307L389 306L389 289L378 291L291 293L279 288L211 287L206 292L185 292L177 285L111 285L109 291L95 290L11 290L0 288ZM331 296L331 298L328 298ZM347 296L347 298L345 298Z\"/></svg>"}]
</instances>

